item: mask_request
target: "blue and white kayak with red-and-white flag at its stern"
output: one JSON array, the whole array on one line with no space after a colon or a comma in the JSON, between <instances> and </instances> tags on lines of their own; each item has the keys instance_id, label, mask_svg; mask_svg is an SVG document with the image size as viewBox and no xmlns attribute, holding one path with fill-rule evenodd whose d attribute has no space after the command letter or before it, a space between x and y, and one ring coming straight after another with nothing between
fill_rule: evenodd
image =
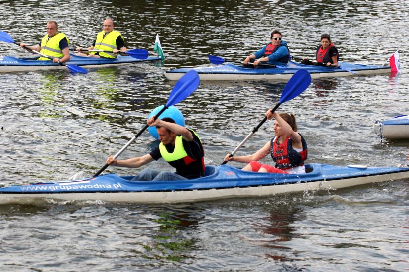
<instances>
[{"instance_id":1,"label":"blue and white kayak with red-and-white flag at its stern","mask_svg":"<svg viewBox=\"0 0 409 272\"><path fill-rule=\"evenodd\" d=\"M343 68L355 72L357 75L371 75L390 73L390 66L353 64L338 62ZM289 79L299 69L307 70L312 78L345 77L354 75L345 69L337 67L322 67L305 65L290 61L285 67L276 68L243 68L241 65L223 64L217 66L201 66L192 68L168 69L165 76L169 80L178 80L190 70L196 70L200 80L254 80L254 79Z\"/></svg>"}]
</instances>

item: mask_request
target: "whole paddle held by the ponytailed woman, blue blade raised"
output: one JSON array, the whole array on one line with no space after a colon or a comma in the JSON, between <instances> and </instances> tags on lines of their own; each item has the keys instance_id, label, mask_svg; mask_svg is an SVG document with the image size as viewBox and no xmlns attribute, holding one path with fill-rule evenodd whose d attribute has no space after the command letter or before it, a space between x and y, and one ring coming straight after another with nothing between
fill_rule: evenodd
<instances>
[{"instance_id":1,"label":"whole paddle held by the ponytailed woman, blue blade raised","mask_svg":"<svg viewBox=\"0 0 409 272\"><path fill-rule=\"evenodd\" d=\"M305 69L300 69L298 70L292 77L289 79L287 82L286 86L284 86L284 89L281 93L281 98L280 101L277 103L277 105L271 110L271 113L275 112L276 109L283 104L284 102L287 102L291 100L292 98L297 97L300 95L305 89L308 88L308 86L311 84L311 75L308 73L307 70ZM246 143L246 141L253 136L254 133L258 131L258 129L261 127L261 125L266 122L267 117L264 116L263 121L261 121L256 127L253 128L253 131L247 135L244 140L240 142L240 144L233 150L233 152L230 154L229 157L233 157L234 154L237 152L237 150ZM228 161L223 161L223 164L226 164Z\"/></svg>"}]
</instances>

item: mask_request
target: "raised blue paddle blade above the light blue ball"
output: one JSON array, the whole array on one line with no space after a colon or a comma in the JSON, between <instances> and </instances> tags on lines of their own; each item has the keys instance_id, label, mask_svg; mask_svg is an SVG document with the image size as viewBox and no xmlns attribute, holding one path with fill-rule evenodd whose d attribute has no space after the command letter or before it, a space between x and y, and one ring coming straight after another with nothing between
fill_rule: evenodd
<instances>
[{"instance_id":1,"label":"raised blue paddle blade above the light blue ball","mask_svg":"<svg viewBox=\"0 0 409 272\"><path fill-rule=\"evenodd\" d=\"M176 82L165 106L170 107L184 100L197 89L199 83L199 74L195 70L190 70L187 72Z\"/></svg>"}]
</instances>

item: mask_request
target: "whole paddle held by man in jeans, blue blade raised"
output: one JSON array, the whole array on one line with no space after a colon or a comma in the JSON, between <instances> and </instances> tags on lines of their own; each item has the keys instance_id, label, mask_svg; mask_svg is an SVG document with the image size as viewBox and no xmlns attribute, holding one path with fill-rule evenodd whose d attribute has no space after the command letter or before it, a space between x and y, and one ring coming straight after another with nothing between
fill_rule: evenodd
<instances>
[{"instance_id":1,"label":"whole paddle held by man in jeans, blue blade raised","mask_svg":"<svg viewBox=\"0 0 409 272\"><path fill-rule=\"evenodd\" d=\"M159 115L161 115L168 107L173 106L180 101L183 101L187 96L189 96L193 91L197 89L199 86L199 74L195 70L190 70L187 72L183 77L181 77L175 84L174 88L169 95L168 101L164 105L164 107L153 117L154 120L158 119ZM116 159L137 137L139 137L147 128L149 127L146 124L132 139L130 139L125 146L121 148L114 155L114 159ZM105 164L93 177L100 175L109 164Z\"/></svg>"}]
</instances>

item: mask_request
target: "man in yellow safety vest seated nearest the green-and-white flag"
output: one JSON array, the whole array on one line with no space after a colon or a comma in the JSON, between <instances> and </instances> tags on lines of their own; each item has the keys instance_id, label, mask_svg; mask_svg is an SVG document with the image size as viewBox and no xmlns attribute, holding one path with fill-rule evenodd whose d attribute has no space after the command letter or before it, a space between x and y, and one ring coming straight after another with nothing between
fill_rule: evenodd
<instances>
[{"instance_id":1,"label":"man in yellow safety vest seated nearest the green-and-white flag","mask_svg":"<svg viewBox=\"0 0 409 272\"><path fill-rule=\"evenodd\" d=\"M114 21L105 19L103 24L104 30L97 34L94 43L88 47L88 50L103 50L110 52L83 52L79 53L82 47L77 47L75 52L77 56L94 57L94 58L116 58L119 51L126 52L125 41L122 35L114 30ZM125 55L125 54L121 54Z\"/></svg>"}]
</instances>

